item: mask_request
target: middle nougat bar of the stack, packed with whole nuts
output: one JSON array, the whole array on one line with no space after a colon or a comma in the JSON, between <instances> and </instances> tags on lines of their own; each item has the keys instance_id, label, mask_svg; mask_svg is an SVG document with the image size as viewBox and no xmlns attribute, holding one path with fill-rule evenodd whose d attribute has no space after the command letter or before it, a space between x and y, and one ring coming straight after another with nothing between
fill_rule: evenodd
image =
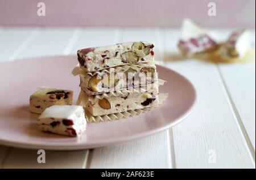
<instances>
[{"instance_id":1,"label":"middle nougat bar of the stack, packed with whole nuts","mask_svg":"<svg viewBox=\"0 0 256 180\"><path fill-rule=\"evenodd\" d=\"M141 87L158 79L153 63L125 65L94 73L80 74L80 87L88 95Z\"/></svg>"}]
</instances>

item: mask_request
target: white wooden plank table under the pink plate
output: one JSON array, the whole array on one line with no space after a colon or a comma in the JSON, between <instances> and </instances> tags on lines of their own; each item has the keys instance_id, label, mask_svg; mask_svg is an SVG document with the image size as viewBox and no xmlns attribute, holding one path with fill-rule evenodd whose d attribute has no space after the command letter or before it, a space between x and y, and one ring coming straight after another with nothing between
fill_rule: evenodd
<instances>
[{"instance_id":1,"label":"white wooden plank table under the pink plate","mask_svg":"<svg viewBox=\"0 0 256 180\"><path fill-rule=\"evenodd\" d=\"M232 31L217 30L222 36ZM193 113L159 134L90 150L46 151L46 164L38 164L35 150L0 145L0 167L255 168L255 59L236 64L178 61L172 54L178 52L179 37L179 28L162 27L0 27L0 62L155 41L156 59L191 80L198 94Z\"/></svg>"}]
</instances>

